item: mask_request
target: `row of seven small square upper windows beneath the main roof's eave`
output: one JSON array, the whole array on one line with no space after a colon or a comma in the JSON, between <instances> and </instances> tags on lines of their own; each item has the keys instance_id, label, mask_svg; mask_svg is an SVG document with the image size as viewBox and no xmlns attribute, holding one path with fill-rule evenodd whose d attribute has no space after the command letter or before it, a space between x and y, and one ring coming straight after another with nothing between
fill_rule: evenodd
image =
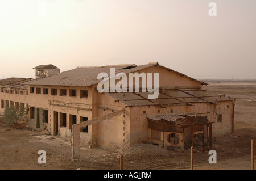
<instances>
[{"instance_id":1,"label":"row of seven small square upper windows beneath the main roof's eave","mask_svg":"<svg viewBox=\"0 0 256 181\"><path fill-rule=\"evenodd\" d=\"M30 87L30 93L35 93L35 88ZM36 94L41 94L41 88L36 88ZM49 94L48 88L43 88L43 94ZM57 89L51 89L51 95L57 95ZM60 89L60 96L67 96L67 89ZM76 97L76 89L69 90L69 96ZM80 90L80 98L87 98L88 91L87 90Z\"/></svg>"}]
</instances>

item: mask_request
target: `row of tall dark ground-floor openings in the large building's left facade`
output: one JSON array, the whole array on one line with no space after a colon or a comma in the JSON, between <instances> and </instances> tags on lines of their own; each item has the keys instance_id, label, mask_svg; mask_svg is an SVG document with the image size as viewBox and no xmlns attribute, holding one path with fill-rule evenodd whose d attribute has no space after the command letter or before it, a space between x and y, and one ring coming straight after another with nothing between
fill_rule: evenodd
<instances>
[{"instance_id":1,"label":"row of tall dark ground-floor openings in the large building's left facade","mask_svg":"<svg viewBox=\"0 0 256 181\"><path fill-rule=\"evenodd\" d=\"M35 108L30 107L30 119L35 119ZM76 115L69 115L71 125L76 124ZM60 127L67 127L67 114L60 112ZM80 123L88 121L88 117L80 117ZM43 122L48 123L48 110L43 110ZM88 126L81 128L81 132L88 133Z\"/></svg>"}]
</instances>

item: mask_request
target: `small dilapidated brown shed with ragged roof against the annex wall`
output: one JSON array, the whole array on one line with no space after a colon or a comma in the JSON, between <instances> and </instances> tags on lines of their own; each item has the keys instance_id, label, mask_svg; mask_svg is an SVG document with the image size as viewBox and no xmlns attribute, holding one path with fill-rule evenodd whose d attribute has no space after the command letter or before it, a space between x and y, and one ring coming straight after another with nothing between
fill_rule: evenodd
<instances>
[{"instance_id":1,"label":"small dilapidated brown shed with ragged roof against the annex wall","mask_svg":"<svg viewBox=\"0 0 256 181\"><path fill-rule=\"evenodd\" d=\"M210 150L212 146L212 124L204 116L196 114L148 115L148 140L164 148L184 148L195 144Z\"/></svg>"}]
</instances>

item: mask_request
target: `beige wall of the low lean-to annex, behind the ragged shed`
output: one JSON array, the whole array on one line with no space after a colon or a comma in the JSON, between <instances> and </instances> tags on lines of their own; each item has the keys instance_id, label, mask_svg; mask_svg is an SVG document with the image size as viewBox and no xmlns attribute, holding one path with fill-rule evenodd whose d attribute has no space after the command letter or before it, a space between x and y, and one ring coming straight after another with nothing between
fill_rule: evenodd
<instances>
[{"instance_id":1,"label":"beige wall of the low lean-to annex, behind the ragged shed","mask_svg":"<svg viewBox=\"0 0 256 181\"><path fill-rule=\"evenodd\" d=\"M227 106L229 105L229 109ZM193 106L168 106L166 108L157 106L130 107L130 140L131 145L148 141L148 121L147 115L164 113L198 113L207 116L209 121L213 121L212 137L219 137L232 133L233 101L217 102L216 112L214 105L208 103L195 103ZM146 112L145 114L143 112ZM159 111L159 112L158 112ZM222 122L217 122L217 115L222 114ZM191 128L185 129L184 141L190 142L192 136Z\"/></svg>"}]
</instances>

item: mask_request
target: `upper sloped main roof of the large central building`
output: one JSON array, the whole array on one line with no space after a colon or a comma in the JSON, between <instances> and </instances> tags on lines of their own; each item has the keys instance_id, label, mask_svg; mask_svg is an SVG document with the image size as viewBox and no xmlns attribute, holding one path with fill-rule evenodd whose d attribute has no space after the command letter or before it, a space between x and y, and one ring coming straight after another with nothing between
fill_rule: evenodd
<instances>
[{"instance_id":1,"label":"upper sloped main roof of the large central building","mask_svg":"<svg viewBox=\"0 0 256 181\"><path fill-rule=\"evenodd\" d=\"M47 85L47 86L82 86L88 87L94 84L101 82L101 79L98 80L97 76L100 73L107 73L110 75L110 68L115 68L115 73L133 73L145 68L149 68L151 66L159 66L158 63L151 63L146 65L107 65L107 66L92 66L92 67L80 67L68 71L64 71L57 75L53 75L51 77L46 77L43 79L36 79L35 81L28 82L29 85ZM162 66L163 67L163 66ZM164 68L164 67L163 67ZM166 68L168 69L168 68ZM168 69L171 70L171 69ZM174 70L171 70L177 73ZM184 75L179 73L180 75ZM184 75L187 77L187 75ZM187 77L189 79L193 79L191 77ZM196 79L193 79L197 81ZM200 81L198 81L200 82ZM202 85L206 84L204 82L200 82Z\"/></svg>"}]
</instances>

